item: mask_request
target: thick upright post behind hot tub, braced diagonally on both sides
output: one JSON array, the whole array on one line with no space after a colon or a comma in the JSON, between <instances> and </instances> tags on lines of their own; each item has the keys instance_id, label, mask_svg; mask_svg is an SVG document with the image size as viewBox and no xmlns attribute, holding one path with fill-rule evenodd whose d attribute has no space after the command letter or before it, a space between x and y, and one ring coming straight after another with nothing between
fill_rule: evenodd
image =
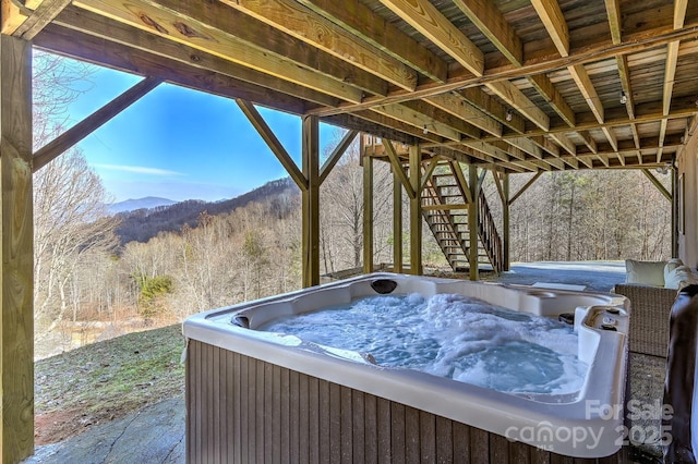
<instances>
[{"instance_id":1,"label":"thick upright post behind hot tub, braced diagonally on both sides","mask_svg":"<svg viewBox=\"0 0 698 464\"><path fill-rule=\"evenodd\" d=\"M320 284L320 127L317 117L303 117L303 286Z\"/></svg>"}]
</instances>

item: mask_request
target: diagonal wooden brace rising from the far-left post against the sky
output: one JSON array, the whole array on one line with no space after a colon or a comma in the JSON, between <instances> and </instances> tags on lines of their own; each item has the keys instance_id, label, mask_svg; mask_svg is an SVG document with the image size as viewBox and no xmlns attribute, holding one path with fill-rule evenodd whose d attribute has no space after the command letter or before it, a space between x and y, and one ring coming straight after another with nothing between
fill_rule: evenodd
<instances>
[{"instance_id":1,"label":"diagonal wooden brace rising from the far-left post against the sky","mask_svg":"<svg viewBox=\"0 0 698 464\"><path fill-rule=\"evenodd\" d=\"M161 81L156 77L146 77L133 87L46 144L34 154L33 171L36 172L83 138L111 121L121 111L139 101L143 96L157 87Z\"/></svg>"}]
</instances>

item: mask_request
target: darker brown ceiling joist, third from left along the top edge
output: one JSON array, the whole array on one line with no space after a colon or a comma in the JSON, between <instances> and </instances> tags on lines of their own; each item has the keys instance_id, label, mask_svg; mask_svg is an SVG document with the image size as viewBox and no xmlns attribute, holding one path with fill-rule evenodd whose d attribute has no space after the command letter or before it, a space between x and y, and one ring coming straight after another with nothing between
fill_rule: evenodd
<instances>
[{"instance_id":1,"label":"darker brown ceiling joist, third from left along the top edge","mask_svg":"<svg viewBox=\"0 0 698 464\"><path fill-rule=\"evenodd\" d=\"M444 60L358 0L299 2L432 80L446 82L448 78Z\"/></svg>"}]
</instances>

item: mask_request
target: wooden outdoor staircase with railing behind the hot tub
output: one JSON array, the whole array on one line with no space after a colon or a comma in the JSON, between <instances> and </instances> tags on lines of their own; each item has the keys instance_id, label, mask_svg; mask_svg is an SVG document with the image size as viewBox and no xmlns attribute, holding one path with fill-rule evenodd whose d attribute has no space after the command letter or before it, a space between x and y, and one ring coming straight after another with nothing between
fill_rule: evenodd
<instances>
[{"instance_id":1,"label":"wooden outdoor staircase with railing behind the hot tub","mask_svg":"<svg viewBox=\"0 0 698 464\"><path fill-rule=\"evenodd\" d=\"M482 190L479 191L478 237L481 246L470 246L468 198L470 192L460 166L455 161L436 164L422 191L422 216L454 271L470 267L477 249L478 265L495 272L504 270L504 248Z\"/></svg>"}]
</instances>

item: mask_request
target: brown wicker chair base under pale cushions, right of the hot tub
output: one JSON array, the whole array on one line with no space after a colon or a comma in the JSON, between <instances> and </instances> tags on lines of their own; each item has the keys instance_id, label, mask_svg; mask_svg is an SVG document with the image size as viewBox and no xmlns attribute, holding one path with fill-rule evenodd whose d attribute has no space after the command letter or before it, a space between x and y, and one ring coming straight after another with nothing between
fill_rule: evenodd
<instances>
[{"instance_id":1,"label":"brown wicker chair base under pale cushions, right of the hot tub","mask_svg":"<svg viewBox=\"0 0 698 464\"><path fill-rule=\"evenodd\" d=\"M630 352L666 357L669 316L678 291L618 283L613 292L630 301Z\"/></svg>"}]
</instances>

